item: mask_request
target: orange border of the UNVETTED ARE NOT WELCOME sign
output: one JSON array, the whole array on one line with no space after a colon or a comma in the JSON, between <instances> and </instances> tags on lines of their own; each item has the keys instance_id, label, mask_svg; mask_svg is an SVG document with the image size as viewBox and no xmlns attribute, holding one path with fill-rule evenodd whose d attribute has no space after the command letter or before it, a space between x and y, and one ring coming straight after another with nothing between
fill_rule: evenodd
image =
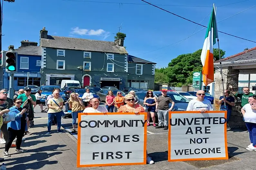
<instances>
[{"instance_id":1,"label":"orange border of the UNVETTED ARE NOT WELCOME sign","mask_svg":"<svg viewBox=\"0 0 256 170\"><path fill-rule=\"evenodd\" d=\"M201 113L199 111L175 111L169 112L169 120L172 118L172 114L182 114L182 113ZM225 118L227 118L227 111L206 111L204 113L224 113ZM198 160L218 160L218 159L228 159L228 143L227 143L227 123L224 124L224 138L225 138L225 152L226 157L209 157L209 158L190 158L190 159L171 159L171 125L170 121L168 122L168 162L175 161L198 161Z\"/></svg>"}]
</instances>

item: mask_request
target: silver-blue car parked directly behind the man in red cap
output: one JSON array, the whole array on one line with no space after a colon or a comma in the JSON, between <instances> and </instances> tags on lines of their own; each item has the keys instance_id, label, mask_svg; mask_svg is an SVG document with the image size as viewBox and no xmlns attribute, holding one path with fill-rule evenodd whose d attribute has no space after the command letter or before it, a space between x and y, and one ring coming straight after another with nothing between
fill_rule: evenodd
<instances>
[{"instance_id":1,"label":"silver-blue car parked directly behind the man in red cap","mask_svg":"<svg viewBox=\"0 0 256 170\"><path fill-rule=\"evenodd\" d=\"M137 91L135 93L139 98L139 104L141 106L143 106L144 98L146 97L146 93L147 93L147 91ZM153 96L156 96L156 98L158 98L161 95L162 95L161 91L153 91ZM184 96L182 96L178 93L175 93L175 92L171 92L171 91L167 92L167 96L172 98L172 100L175 103L175 105L173 107L173 111L185 111L187 109L189 100L187 98L185 98ZM171 106L172 106L172 104L170 103L169 108Z\"/></svg>"}]
</instances>

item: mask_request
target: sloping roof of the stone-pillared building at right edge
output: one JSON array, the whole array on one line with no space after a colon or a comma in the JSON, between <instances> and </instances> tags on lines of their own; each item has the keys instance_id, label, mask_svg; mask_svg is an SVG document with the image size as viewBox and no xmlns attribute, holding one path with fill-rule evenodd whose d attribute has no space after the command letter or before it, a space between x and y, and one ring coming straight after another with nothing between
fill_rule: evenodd
<instances>
[{"instance_id":1,"label":"sloping roof of the stone-pillared building at right edge","mask_svg":"<svg viewBox=\"0 0 256 170\"><path fill-rule=\"evenodd\" d=\"M251 60L256 59L256 47L250 48L248 50L242 51L235 55L223 58L222 62L232 62L232 61L242 61L242 60ZM219 63L220 60L215 61L214 63Z\"/></svg>"}]
</instances>

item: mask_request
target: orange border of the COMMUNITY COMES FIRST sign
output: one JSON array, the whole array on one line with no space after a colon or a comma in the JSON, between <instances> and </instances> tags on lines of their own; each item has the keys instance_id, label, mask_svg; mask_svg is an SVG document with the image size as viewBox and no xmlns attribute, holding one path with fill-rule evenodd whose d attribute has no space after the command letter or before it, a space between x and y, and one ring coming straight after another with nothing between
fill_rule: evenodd
<instances>
[{"instance_id":1,"label":"orange border of the COMMUNITY COMES FIRST sign","mask_svg":"<svg viewBox=\"0 0 256 170\"><path fill-rule=\"evenodd\" d=\"M81 154L81 122L82 115L135 115L135 113L127 112L116 112L116 113L78 113L78 134L77 134L77 167L94 167L94 166L121 166L121 165L146 165L147 164L147 125L144 126L144 158L143 162L138 163L113 163L113 164L91 164L91 165L80 165L80 154ZM137 115L144 115L144 121L147 120L147 113L141 112Z\"/></svg>"}]
</instances>

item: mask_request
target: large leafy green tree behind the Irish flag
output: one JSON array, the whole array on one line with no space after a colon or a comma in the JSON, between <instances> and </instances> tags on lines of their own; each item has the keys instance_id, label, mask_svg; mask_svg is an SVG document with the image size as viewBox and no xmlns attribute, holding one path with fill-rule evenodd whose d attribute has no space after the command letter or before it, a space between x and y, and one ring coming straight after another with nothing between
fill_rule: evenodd
<instances>
[{"instance_id":1,"label":"large leafy green tree behind the Irish flag","mask_svg":"<svg viewBox=\"0 0 256 170\"><path fill-rule=\"evenodd\" d=\"M173 83L175 86L187 85L192 83L193 72L202 71L201 63L202 49L194 53L182 54L172 59L168 67L161 70L167 77L168 83ZM225 51L220 49L221 58L225 55ZM215 61L219 60L219 51L213 49L213 57Z\"/></svg>"}]
</instances>

